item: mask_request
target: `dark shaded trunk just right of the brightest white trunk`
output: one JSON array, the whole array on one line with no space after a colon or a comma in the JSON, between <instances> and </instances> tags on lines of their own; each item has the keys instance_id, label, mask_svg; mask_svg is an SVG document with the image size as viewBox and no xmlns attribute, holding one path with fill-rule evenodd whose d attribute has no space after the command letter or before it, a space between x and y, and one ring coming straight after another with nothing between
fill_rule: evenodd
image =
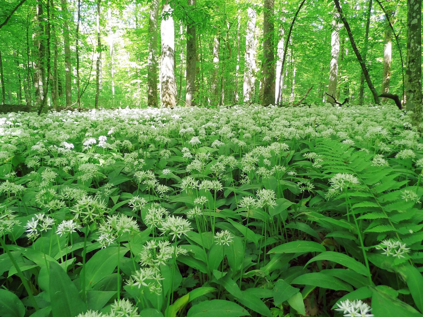
<instances>
[{"instance_id":1,"label":"dark shaded trunk just right of the brightest white trunk","mask_svg":"<svg viewBox=\"0 0 423 317\"><path fill-rule=\"evenodd\" d=\"M195 8L196 0L188 0L188 5ZM195 106L192 100L195 96L195 75L197 73L195 63L197 61L197 49L195 47L195 22L187 23L187 92L185 94L185 103L187 106Z\"/></svg>"}]
</instances>

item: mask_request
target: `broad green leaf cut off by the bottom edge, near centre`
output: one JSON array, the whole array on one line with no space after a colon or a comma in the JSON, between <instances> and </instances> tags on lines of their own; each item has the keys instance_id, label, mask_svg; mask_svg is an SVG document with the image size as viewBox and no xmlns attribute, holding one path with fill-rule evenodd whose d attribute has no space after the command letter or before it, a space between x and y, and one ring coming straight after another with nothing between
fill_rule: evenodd
<instances>
[{"instance_id":1,"label":"broad green leaf cut off by the bottom edge, near centre","mask_svg":"<svg viewBox=\"0 0 423 317\"><path fill-rule=\"evenodd\" d=\"M237 303L213 299L202 301L188 311L187 317L238 317L250 316L246 309Z\"/></svg>"}]
</instances>

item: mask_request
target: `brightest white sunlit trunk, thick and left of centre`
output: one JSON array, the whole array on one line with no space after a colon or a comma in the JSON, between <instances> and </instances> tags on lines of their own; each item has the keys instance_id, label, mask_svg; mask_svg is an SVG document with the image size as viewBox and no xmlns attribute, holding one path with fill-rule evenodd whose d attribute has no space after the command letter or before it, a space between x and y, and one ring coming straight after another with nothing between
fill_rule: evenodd
<instances>
[{"instance_id":1,"label":"brightest white sunlit trunk, thick and left of centre","mask_svg":"<svg viewBox=\"0 0 423 317\"><path fill-rule=\"evenodd\" d=\"M163 5L162 13L171 14L172 11L173 9L170 8L169 1L166 1ZM176 105L176 79L175 24L171 15L169 15L166 19L162 19L160 32L162 38L162 56L160 63L160 104L161 107L172 108Z\"/></svg>"}]
</instances>

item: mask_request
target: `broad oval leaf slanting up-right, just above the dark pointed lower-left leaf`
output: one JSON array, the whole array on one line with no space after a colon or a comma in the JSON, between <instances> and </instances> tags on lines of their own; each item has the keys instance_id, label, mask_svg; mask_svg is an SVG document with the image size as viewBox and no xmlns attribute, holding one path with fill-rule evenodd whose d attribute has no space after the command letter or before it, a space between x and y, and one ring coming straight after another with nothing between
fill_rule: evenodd
<instances>
[{"instance_id":1,"label":"broad oval leaf slanting up-right, just above the dark pointed lower-left leaf","mask_svg":"<svg viewBox=\"0 0 423 317\"><path fill-rule=\"evenodd\" d=\"M121 250L121 257L125 251ZM104 277L110 275L118 266L118 247L109 247L97 251L81 270L81 276L85 271L85 285L87 289L93 287ZM82 282L82 281L81 281Z\"/></svg>"}]
</instances>

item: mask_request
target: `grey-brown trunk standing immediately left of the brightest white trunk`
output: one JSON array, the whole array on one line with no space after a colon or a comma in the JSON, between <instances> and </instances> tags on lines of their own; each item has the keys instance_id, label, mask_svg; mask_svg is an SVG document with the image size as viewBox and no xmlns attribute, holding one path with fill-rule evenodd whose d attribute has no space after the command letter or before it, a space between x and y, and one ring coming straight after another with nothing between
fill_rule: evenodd
<instances>
[{"instance_id":1,"label":"grey-brown trunk standing immediately left of the brightest white trunk","mask_svg":"<svg viewBox=\"0 0 423 317\"><path fill-rule=\"evenodd\" d=\"M150 3L150 18L148 19L148 74L147 74L147 104L157 108L157 20L159 18L159 0Z\"/></svg>"}]
</instances>

